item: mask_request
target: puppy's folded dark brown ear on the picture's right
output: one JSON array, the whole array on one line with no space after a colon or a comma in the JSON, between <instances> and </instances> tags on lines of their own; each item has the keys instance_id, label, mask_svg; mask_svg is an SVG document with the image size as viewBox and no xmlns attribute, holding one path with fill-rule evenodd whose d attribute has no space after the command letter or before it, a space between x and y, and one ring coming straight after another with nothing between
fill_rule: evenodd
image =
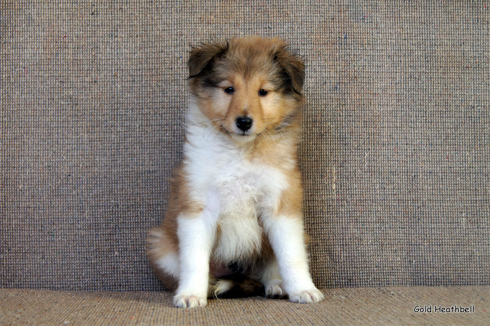
<instances>
[{"instance_id":1,"label":"puppy's folded dark brown ear on the picture's right","mask_svg":"<svg viewBox=\"0 0 490 326\"><path fill-rule=\"evenodd\" d=\"M295 54L288 51L286 45L280 46L274 54L274 60L286 71L291 80L294 93L301 95L305 80L305 65Z\"/></svg>"}]
</instances>

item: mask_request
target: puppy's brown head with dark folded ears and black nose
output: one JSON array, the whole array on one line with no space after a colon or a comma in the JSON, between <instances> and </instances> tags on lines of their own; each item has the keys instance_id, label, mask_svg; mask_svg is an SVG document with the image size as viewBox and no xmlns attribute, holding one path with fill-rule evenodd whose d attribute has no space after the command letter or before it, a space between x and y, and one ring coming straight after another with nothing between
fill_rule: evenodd
<instances>
[{"instance_id":1,"label":"puppy's brown head with dark folded ears and black nose","mask_svg":"<svg viewBox=\"0 0 490 326\"><path fill-rule=\"evenodd\" d=\"M189 88L214 127L247 142L300 116L302 61L280 39L246 37L191 50Z\"/></svg>"}]
</instances>

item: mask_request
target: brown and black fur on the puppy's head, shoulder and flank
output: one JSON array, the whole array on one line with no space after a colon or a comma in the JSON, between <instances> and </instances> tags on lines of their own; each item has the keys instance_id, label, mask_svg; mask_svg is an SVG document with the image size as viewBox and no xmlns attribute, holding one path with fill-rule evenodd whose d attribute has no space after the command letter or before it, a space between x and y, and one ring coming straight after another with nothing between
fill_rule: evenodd
<instances>
[{"instance_id":1,"label":"brown and black fur on the puppy's head, shoulder and flank","mask_svg":"<svg viewBox=\"0 0 490 326\"><path fill-rule=\"evenodd\" d=\"M222 95L230 81L236 90L236 96L231 99ZM253 117L257 137L243 144L248 158L284 171L290 186L283 193L276 210L298 218L301 217L303 190L296 150L303 81L302 61L291 54L280 39L232 39L222 43L202 44L194 47L190 53L189 88L196 98L197 106L212 121L214 128L225 135L233 133L237 116ZM260 89L268 91L267 96L262 97L258 93ZM171 181L171 195L163 223L149 231L147 240L147 256L170 290L176 288L176 279L162 273L155 262L168 253L178 252L177 216L183 212L196 216L203 210L203 203L189 199L186 178L181 165ZM270 245L264 239L262 251L257 253L248 269L242 272L253 277L261 261L272 256ZM220 265L220 262L211 261L211 265ZM216 281L211 275L210 294L213 293ZM236 295L237 289L245 288L247 281L241 283L243 286L236 285L230 291L233 295ZM255 285L247 288L257 293Z\"/></svg>"}]
</instances>

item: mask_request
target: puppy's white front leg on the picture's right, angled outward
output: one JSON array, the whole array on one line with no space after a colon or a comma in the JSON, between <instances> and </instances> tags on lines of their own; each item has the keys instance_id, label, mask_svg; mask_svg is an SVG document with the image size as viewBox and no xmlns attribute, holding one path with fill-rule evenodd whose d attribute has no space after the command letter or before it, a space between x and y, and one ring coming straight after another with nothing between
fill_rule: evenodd
<instances>
[{"instance_id":1,"label":"puppy's white front leg on the picture's right, angled outward","mask_svg":"<svg viewBox=\"0 0 490 326\"><path fill-rule=\"evenodd\" d=\"M264 227L289 300L296 303L321 301L324 296L313 284L308 268L301 217L270 216L264 220Z\"/></svg>"}]
</instances>

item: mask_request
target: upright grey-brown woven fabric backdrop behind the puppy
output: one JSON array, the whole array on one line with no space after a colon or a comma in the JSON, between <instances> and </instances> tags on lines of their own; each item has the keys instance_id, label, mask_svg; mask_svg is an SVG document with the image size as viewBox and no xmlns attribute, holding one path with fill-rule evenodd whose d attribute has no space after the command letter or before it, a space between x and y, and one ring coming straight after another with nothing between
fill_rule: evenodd
<instances>
[{"instance_id":1,"label":"upright grey-brown woven fabric backdrop behind the puppy","mask_svg":"<svg viewBox=\"0 0 490 326\"><path fill-rule=\"evenodd\" d=\"M488 1L2 0L0 285L162 288L143 240L182 154L189 44L248 34L306 61L318 286L490 284L489 17Z\"/></svg>"}]
</instances>

